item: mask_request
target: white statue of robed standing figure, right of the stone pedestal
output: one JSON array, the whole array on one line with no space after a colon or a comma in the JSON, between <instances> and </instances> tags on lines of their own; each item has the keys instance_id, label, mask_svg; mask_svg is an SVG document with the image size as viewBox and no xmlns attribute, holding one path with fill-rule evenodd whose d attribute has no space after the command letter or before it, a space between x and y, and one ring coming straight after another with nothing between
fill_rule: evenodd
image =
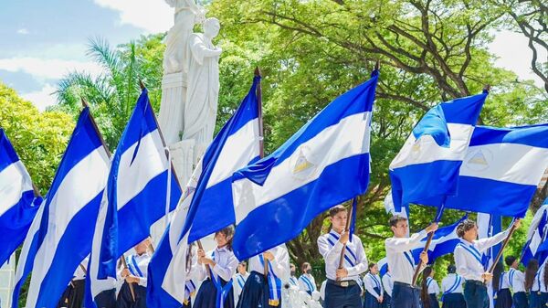
<instances>
[{"instance_id":1,"label":"white statue of robed standing figure, right of the stone pedestal","mask_svg":"<svg viewBox=\"0 0 548 308\"><path fill-rule=\"evenodd\" d=\"M204 33L188 37L188 83L184 106L183 139L207 146L213 139L219 96L219 57L221 48L212 39L219 33L216 18L207 18Z\"/></svg>"}]
</instances>

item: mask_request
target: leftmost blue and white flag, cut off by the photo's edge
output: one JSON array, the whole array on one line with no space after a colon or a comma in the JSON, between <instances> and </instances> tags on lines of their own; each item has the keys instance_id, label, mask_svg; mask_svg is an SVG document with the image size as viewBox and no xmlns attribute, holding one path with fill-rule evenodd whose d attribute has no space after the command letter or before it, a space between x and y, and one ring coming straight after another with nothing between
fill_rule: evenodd
<instances>
[{"instance_id":1,"label":"leftmost blue and white flag, cut off by the photo's edge","mask_svg":"<svg viewBox=\"0 0 548 308\"><path fill-rule=\"evenodd\" d=\"M0 128L0 267L25 240L41 202L39 196L35 200L30 175Z\"/></svg>"}]
</instances>

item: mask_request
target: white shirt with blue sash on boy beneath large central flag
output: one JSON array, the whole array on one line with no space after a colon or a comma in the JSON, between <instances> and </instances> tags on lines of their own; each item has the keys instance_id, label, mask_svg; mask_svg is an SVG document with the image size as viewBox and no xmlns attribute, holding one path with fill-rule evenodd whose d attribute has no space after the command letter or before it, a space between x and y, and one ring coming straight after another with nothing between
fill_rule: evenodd
<instances>
[{"instance_id":1,"label":"white shirt with blue sash on boy beneath large central flag","mask_svg":"<svg viewBox=\"0 0 548 308\"><path fill-rule=\"evenodd\" d=\"M339 241L341 235L335 230L322 235L318 238L318 250L325 260L325 275L328 279L335 281L337 279L336 271L339 268L341 260L342 243ZM352 241L346 243L344 252L344 268L348 271L348 276L341 281L356 281L360 284L360 274L367 271L367 257L365 256L362 240L356 235L352 235Z\"/></svg>"}]
</instances>

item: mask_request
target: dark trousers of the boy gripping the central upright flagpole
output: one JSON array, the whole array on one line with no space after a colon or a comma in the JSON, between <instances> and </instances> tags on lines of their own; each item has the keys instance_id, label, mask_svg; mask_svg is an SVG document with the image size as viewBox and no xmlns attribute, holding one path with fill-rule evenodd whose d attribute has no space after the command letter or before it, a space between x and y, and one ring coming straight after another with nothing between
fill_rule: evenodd
<instances>
[{"instance_id":1,"label":"dark trousers of the boy gripping the central upright flagpole","mask_svg":"<svg viewBox=\"0 0 548 308\"><path fill-rule=\"evenodd\" d=\"M357 284L342 287L332 281L325 284L325 308L361 308L362 289Z\"/></svg>"}]
</instances>

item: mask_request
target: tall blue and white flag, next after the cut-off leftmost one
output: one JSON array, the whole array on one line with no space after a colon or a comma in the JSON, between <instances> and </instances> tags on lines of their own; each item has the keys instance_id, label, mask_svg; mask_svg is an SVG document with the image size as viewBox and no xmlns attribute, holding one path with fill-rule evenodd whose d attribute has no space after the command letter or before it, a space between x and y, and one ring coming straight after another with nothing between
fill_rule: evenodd
<instances>
[{"instance_id":1,"label":"tall blue and white flag, next after the cut-off leftmost one","mask_svg":"<svg viewBox=\"0 0 548 308\"><path fill-rule=\"evenodd\" d=\"M90 118L79 115L43 205L27 307L53 308L91 250L110 159Z\"/></svg>"}]
</instances>

